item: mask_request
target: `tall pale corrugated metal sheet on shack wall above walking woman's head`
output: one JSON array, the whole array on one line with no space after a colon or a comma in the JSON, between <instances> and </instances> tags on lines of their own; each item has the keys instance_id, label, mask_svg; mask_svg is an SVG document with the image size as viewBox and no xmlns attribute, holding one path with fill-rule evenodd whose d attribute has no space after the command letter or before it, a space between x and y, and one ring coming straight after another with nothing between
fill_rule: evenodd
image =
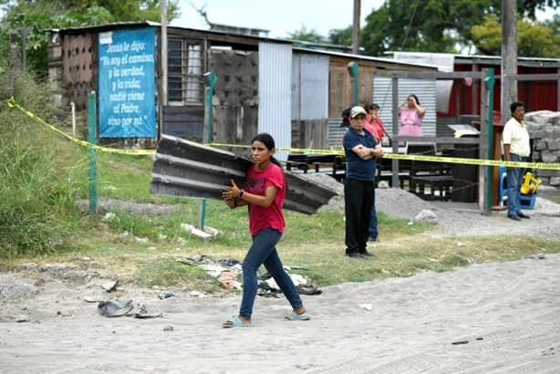
<instances>
[{"instance_id":1,"label":"tall pale corrugated metal sheet on shack wall above walking woman's head","mask_svg":"<svg viewBox=\"0 0 560 374\"><path fill-rule=\"evenodd\" d=\"M292 46L259 43L258 131L275 138L276 147L292 147ZM277 151L287 160L287 151Z\"/></svg>"}]
</instances>

